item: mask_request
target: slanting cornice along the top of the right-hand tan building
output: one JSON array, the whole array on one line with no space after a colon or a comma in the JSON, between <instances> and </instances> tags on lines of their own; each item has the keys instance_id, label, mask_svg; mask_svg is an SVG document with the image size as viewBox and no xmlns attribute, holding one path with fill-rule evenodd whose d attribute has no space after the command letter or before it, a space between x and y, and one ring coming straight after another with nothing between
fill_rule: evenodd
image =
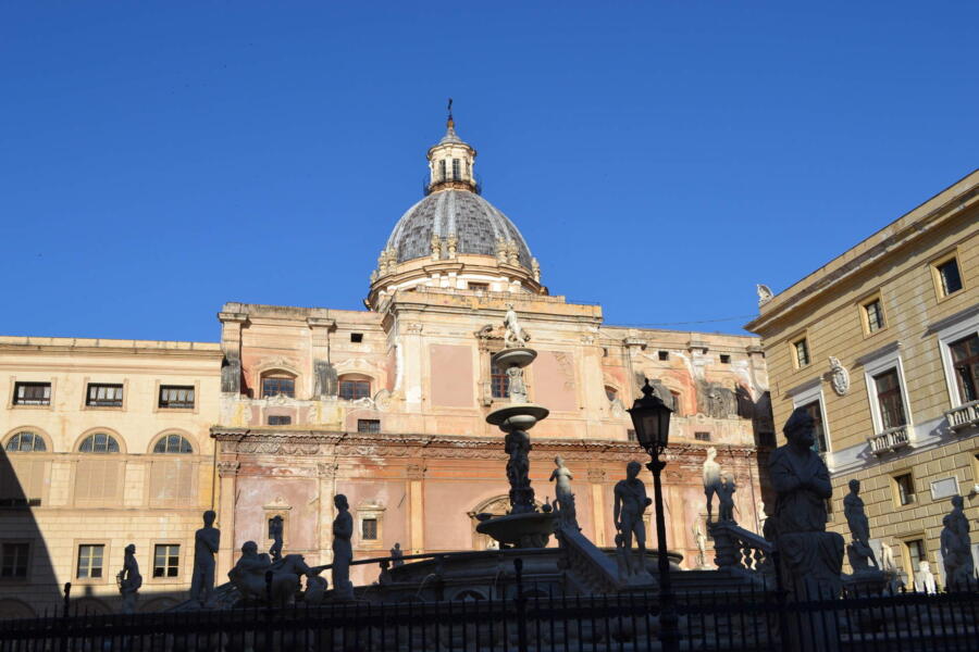
<instances>
[{"instance_id":1,"label":"slanting cornice along the top of the right-hand tan building","mask_svg":"<svg viewBox=\"0 0 979 652\"><path fill-rule=\"evenodd\" d=\"M928 198L910 211L864 238L818 269L807 274L761 305L757 317L744 329L760 333L773 321L814 299L827 288L848 278L857 269L921 237L930 224L979 201L979 168Z\"/></svg>"}]
</instances>

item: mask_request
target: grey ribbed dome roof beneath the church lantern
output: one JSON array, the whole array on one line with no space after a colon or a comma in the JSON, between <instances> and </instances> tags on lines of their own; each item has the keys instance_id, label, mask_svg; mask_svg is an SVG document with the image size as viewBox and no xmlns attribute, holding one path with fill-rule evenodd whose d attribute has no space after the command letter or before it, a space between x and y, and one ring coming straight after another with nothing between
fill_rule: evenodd
<instances>
[{"instance_id":1,"label":"grey ribbed dome roof beneath the church lantern","mask_svg":"<svg viewBox=\"0 0 979 652\"><path fill-rule=\"evenodd\" d=\"M496 255L498 240L512 240L520 265L531 268L531 253L523 236L506 215L475 192L443 190L427 196L398 220L387 247L397 252L399 263L426 258L432 254L433 233L443 241L455 235L460 254Z\"/></svg>"}]
</instances>

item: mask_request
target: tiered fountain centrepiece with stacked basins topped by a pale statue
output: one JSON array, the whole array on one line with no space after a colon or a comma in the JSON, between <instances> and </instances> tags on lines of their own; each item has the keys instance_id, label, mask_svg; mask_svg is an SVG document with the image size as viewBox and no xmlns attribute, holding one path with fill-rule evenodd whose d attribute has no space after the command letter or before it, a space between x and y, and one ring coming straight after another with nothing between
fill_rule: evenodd
<instances>
[{"instance_id":1,"label":"tiered fountain centrepiece with stacked basins topped by a pale statue","mask_svg":"<svg viewBox=\"0 0 979 652\"><path fill-rule=\"evenodd\" d=\"M510 482L510 511L504 516L480 514L476 531L493 537L501 548L544 548L554 532L556 514L550 505L537 511L534 489L530 481L531 440L528 430L547 417L543 405L529 403L523 371L537 356L526 346L530 336L517 321L512 305L507 306L504 319L504 349L493 355L493 364L506 369L510 403L486 416L486 422L506 432L507 480Z\"/></svg>"}]
</instances>

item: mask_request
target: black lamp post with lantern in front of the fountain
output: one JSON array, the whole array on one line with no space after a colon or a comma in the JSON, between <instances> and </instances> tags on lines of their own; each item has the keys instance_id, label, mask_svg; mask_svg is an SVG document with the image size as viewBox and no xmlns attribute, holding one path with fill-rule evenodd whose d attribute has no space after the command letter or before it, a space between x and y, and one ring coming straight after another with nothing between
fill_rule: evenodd
<instances>
[{"instance_id":1,"label":"black lamp post with lantern in front of the fountain","mask_svg":"<svg viewBox=\"0 0 979 652\"><path fill-rule=\"evenodd\" d=\"M656 499L656 543L659 550L659 641L664 652L677 652L680 649L680 618L673 601L673 589L670 584L670 560L666 547L666 521L662 512L662 484L659 476L666 462L659 460L670 438L670 415L673 411L653 393L649 379L643 386L643 396L636 399L629 410L635 437L653 459L646 468L653 472L653 491Z\"/></svg>"}]
</instances>

